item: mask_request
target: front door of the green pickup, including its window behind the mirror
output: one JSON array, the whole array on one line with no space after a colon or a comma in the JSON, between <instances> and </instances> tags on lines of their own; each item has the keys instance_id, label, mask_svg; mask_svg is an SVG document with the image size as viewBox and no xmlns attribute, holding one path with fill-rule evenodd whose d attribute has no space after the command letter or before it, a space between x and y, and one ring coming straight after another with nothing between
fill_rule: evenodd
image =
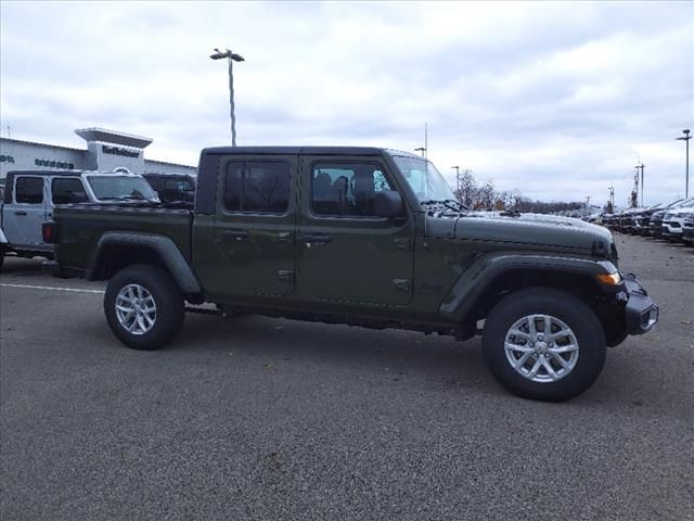
<instances>
[{"instance_id":1,"label":"front door of the green pickup, including its window behind the mirror","mask_svg":"<svg viewBox=\"0 0 694 521\"><path fill-rule=\"evenodd\" d=\"M412 297L414 225L377 217L374 193L399 190L381 157L305 156L297 230L303 298L404 305Z\"/></svg>"}]
</instances>

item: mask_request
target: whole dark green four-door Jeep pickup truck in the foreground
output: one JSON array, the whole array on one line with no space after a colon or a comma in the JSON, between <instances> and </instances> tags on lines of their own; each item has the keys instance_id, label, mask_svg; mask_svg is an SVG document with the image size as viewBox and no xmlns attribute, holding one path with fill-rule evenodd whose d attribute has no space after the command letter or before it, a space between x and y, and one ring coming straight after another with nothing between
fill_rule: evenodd
<instances>
[{"instance_id":1,"label":"whole dark green four-door Jeep pickup truck in the foreground","mask_svg":"<svg viewBox=\"0 0 694 521\"><path fill-rule=\"evenodd\" d=\"M564 401L600 374L606 346L651 330L658 308L617 267L604 228L476 213L434 165L388 149L203 150L194 207L59 206L46 270L107 280L126 345L177 335L185 305L454 335L481 334L511 392ZM205 309L205 307L203 307Z\"/></svg>"}]
</instances>

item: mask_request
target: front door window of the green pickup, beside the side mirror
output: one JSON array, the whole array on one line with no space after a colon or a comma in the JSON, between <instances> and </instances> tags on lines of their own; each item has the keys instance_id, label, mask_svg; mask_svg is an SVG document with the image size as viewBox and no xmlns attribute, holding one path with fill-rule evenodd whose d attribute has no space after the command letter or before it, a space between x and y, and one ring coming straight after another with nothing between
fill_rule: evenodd
<instances>
[{"instance_id":1,"label":"front door window of the green pickup, beside the side mirror","mask_svg":"<svg viewBox=\"0 0 694 521\"><path fill-rule=\"evenodd\" d=\"M381 166L371 163L317 163L311 177L311 208L319 215L374 216L374 193L393 190Z\"/></svg>"}]
</instances>

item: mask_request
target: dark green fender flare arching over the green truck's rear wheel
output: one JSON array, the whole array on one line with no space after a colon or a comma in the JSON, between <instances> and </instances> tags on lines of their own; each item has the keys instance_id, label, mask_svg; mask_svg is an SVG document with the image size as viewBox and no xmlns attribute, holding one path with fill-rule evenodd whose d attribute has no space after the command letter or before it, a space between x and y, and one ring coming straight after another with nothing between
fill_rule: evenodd
<instances>
[{"instance_id":1,"label":"dark green fender flare arching over the green truck's rear wheel","mask_svg":"<svg viewBox=\"0 0 694 521\"><path fill-rule=\"evenodd\" d=\"M104 262L108 246L149 249L156 253L185 295L202 293L192 268L171 239L155 233L108 231L104 233L87 271L88 280L99 280L99 268Z\"/></svg>"}]
</instances>

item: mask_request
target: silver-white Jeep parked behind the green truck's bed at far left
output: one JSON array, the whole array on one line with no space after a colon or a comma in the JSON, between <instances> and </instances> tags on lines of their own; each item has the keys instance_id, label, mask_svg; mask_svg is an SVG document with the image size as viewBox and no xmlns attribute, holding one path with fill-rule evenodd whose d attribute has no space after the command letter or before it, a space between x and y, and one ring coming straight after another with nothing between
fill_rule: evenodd
<instances>
[{"instance_id":1,"label":"silver-white Jeep parked behind the green truck's bed at far left","mask_svg":"<svg viewBox=\"0 0 694 521\"><path fill-rule=\"evenodd\" d=\"M9 171L0 203L0 266L5 254L53 256L41 225L60 204L157 200L142 176L82 170Z\"/></svg>"}]
</instances>

